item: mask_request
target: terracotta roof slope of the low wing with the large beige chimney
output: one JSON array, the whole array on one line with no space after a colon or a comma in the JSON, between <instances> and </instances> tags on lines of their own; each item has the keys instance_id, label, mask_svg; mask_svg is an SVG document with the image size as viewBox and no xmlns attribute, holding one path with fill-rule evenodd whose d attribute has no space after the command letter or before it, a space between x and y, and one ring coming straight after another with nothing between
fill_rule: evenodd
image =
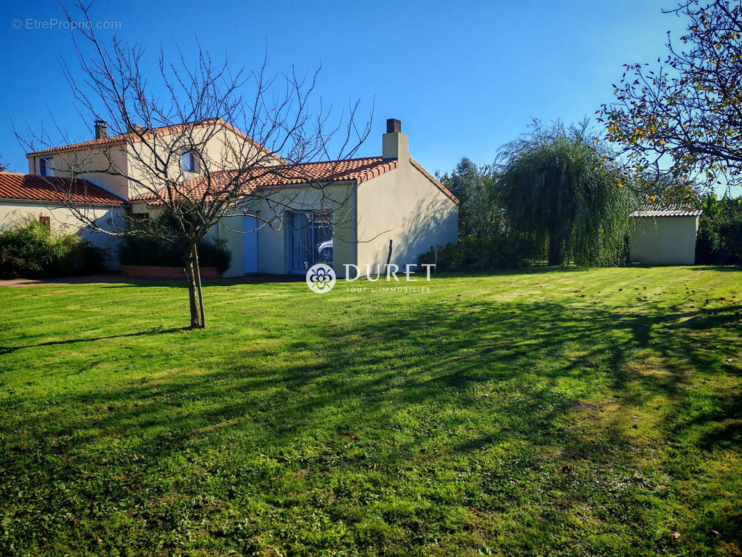
<instances>
[{"instance_id":1,"label":"terracotta roof slope of the low wing with the large beige chimney","mask_svg":"<svg viewBox=\"0 0 742 557\"><path fill-rule=\"evenodd\" d=\"M367 180L397 168L396 160L384 160L381 157L366 157L349 160L331 160L321 163L303 163L298 165L264 166L255 169L252 175L240 177L247 183L240 195L249 195L260 187L292 186L306 183L348 182L363 183ZM206 176L195 177L177 186L177 193L183 197L200 199L208 192L209 187L217 191L223 185L234 180L236 171L222 171L211 174L211 185ZM131 201L147 201L148 205L160 205L166 196L165 189L155 195L146 193L131 198ZM208 196L207 196L208 197Z\"/></svg>"}]
</instances>

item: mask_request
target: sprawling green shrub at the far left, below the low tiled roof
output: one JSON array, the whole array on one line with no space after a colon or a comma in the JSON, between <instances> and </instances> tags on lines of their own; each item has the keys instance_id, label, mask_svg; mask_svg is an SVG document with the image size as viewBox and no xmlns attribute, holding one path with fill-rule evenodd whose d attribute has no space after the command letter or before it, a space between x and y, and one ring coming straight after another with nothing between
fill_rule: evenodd
<instances>
[{"instance_id":1,"label":"sprawling green shrub at the far left, below the low tiled roof","mask_svg":"<svg viewBox=\"0 0 742 557\"><path fill-rule=\"evenodd\" d=\"M105 252L31 219L0 231L0 276L37 278L104 270Z\"/></svg>"}]
</instances>

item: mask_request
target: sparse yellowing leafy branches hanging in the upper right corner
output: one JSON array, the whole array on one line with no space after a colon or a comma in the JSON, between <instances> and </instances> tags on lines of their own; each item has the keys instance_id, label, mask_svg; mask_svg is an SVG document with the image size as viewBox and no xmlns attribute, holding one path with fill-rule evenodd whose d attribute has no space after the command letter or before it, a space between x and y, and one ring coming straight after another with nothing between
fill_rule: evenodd
<instances>
[{"instance_id":1,"label":"sparse yellowing leafy branches hanging in the upper right corner","mask_svg":"<svg viewBox=\"0 0 742 557\"><path fill-rule=\"evenodd\" d=\"M668 32L668 54L656 66L629 63L615 102L598 120L606 139L623 145L637 175L659 175L710 190L742 183L742 3L681 2L689 19L680 45Z\"/></svg>"}]
</instances>

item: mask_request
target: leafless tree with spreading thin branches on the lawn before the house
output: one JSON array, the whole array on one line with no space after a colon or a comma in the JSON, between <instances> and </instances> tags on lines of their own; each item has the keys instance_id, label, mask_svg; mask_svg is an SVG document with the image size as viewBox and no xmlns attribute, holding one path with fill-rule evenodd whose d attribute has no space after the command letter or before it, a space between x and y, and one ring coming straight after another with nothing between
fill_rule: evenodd
<instances>
[{"instance_id":1,"label":"leafless tree with spreading thin branches on the lawn before the house","mask_svg":"<svg viewBox=\"0 0 742 557\"><path fill-rule=\"evenodd\" d=\"M89 8L75 4L87 22ZM65 13L70 22L81 19L67 7ZM321 102L312 111L318 71L269 74L267 57L257 71L232 71L228 61L214 63L199 47L194 62L180 48L174 59L160 48L159 71L145 75L141 45L115 36L104 44L93 25L70 27L79 69L65 62L62 68L78 112L105 122L111 135L85 149L57 152L63 168L55 173L111 177L131 203L119 225L105 227L71 196L65 205L99 232L182 245L191 328L205 327L197 245L220 220L247 215L258 227L289 226L283 215L301 209L305 196L274 186L286 182L318 190L326 212L349 210L351 193L344 190L338 198L337 191L329 192L329 180L307 172L303 163L332 161L326 176L338 172L366 140L370 118L356 126L358 102L336 123ZM39 143L53 146L43 131L29 130L22 140L31 151ZM344 221L335 218L335 226Z\"/></svg>"}]
</instances>

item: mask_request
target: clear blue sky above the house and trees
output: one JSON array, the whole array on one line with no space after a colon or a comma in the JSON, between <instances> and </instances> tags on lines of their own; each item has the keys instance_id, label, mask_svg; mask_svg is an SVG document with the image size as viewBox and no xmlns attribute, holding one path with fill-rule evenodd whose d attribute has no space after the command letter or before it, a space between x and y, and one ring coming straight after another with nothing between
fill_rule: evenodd
<instances>
[{"instance_id":1,"label":"clear blue sky above the house and trees","mask_svg":"<svg viewBox=\"0 0 742 557\"><path fill-rule=\"evenodd\" d=\"M232 67L255 68L268 45L275 71L321 62L318 94L347 107L374 108L361 155L381 152L385 120L410 136L410 152L431 172L463 156L490 163L532 117L566 123L593 117L611 100L625 62L656 60L666 31L683 20L663 15L672 1L97 1L92 17L120 22L116 33L148 49L195 38ZM27 19L62 19L56 1L4 1L0 7L0 154L27 172L24 149L10 131L39 129L51 111L70 138L91 138L90 121L73 108L57 59L75 68L69 32L28 29ZM13 19L22 22L13 29ZM153 68L154 69L154 66ZM90 119L91 120L91 119Z\"/></svg>"}]
</instances>

